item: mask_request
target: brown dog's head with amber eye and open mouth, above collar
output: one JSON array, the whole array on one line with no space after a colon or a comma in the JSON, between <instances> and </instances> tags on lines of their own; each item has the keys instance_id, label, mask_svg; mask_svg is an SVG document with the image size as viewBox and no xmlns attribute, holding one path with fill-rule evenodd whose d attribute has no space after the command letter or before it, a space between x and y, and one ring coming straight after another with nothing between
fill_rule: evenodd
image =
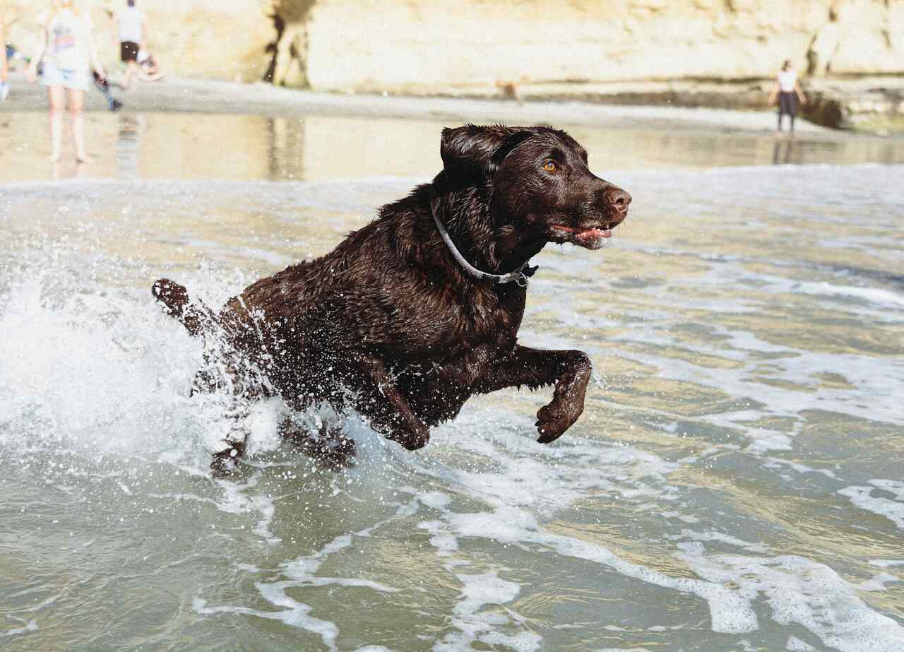
<instances>
[{"instance_id":1,"label":"brown dog's head with amber eye and open mouth, above collar","mask_svg":"<svg viewBox=\"0 0 904 652\"><path fill-rule=\"evenodd\" d=\"M443 129L447 179L488 188L491 213L525 240L599 249L627 217L631 195L593 175L587 151L548 127Z\"/></svg>"}]
</instances>

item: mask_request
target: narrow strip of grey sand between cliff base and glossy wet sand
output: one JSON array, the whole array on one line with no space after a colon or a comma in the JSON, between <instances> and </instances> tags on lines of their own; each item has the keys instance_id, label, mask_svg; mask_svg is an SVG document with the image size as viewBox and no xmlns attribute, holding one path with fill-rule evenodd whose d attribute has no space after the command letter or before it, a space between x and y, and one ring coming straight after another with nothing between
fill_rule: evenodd
<instances>
[{"instance_id":1,"label":"narrow strip of grey sand between cliff base and glossy wet sand","mask_svg":"<svg viewBox=\"0 0 904 652\"><path fill-rule=\"evenodd\" d=\"M11 74L12 92L0 102L0 113L46 110L43 87ZM578 99L489 99L473 97L393 96L389 94L325 93L221 80L167 78L139 84L121 93L127 113L200 113L272 116L349 116L431 118L452 123L506 122L562 124L595 128L650 128L678 132L774 132L773 110L712 109L679 106L625 105ZM86 110L108 111L95 90L86 94ZM797 131L829 140L871 137L797 120Z\"/></svg>"}]
</instances>

